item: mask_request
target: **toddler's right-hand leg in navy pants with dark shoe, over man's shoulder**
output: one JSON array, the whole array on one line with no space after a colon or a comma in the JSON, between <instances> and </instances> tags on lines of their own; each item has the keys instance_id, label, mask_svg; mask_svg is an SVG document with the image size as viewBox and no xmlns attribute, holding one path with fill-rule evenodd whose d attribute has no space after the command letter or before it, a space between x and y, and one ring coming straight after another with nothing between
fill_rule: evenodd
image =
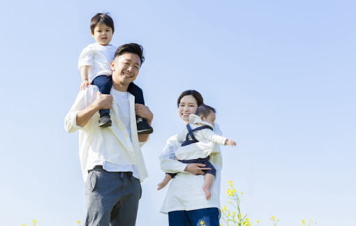
<instances>
[{"instance_id":1,"label":"toddler's right-hand leg in navy pants with dark shoe, over man's shoulder","mask_svg":"<svg viewBox=\"0 0 356 226\"><path fill-rule=\"evenodd\" d=\"M128 85L127 91L131 93L133 96L135 96L135 103L144 105L143 92L139 86L136 86L133 82L131 82ZM149 126L149 123L147 123L146 119L140 117L139 115L136 115L136 119L137 119L137 126L138 126L138 134L154 133L154 129L151 126Z\"/></svg>"}]
</instances>

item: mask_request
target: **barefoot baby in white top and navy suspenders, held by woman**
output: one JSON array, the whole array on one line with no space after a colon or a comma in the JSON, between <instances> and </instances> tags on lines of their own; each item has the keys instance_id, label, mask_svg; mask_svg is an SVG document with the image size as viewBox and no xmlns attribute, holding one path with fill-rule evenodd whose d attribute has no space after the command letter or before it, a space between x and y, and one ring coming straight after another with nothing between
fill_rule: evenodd
<instances>
[{"instance_id":1,"label":"barefoot baby in white top and navy suspenders, held by woman","mask_svg":"<svg viewBox=\"0 0 356 226\"><path fill-rule=\"evenodd\" d=\"M216 135L214 133L214 121L216 119L216 110L208 105L200 105L195 114L189 115L189 123L186 124L186 128L177 135L178 142L182 143L181 148L175 152L176 160L181 163L202 163L207 168L205 172L204 190L205 197L210 199L210 188L214 182L216 175L216 169L212 163L209 162L209 155L212 153L212 148L209 148L209 142L222 145L236 146L236 143L232 140L228 140L225 137ZM198 142L205 142L204 145L189 145ZM163 181L158 183L158 190L164 188L168 182L175 177L176 174L166 173Z\"/></svg>"}]
</instances>

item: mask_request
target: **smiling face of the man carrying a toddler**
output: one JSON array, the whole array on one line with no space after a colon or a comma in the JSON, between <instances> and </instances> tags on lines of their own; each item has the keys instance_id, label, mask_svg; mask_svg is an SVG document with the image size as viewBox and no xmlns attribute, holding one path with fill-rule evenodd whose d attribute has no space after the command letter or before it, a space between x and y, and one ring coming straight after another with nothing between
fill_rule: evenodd
<instances>
[{"instance_id":1,"label":"smiling face of the man carrying a toddler","mask_svg":"<svg viewBox=\"0 0 356 226\"><path fill-rule=\"evenodd\" d=\"M141 59L138 54L126 52L110 63L114 83L128 86L140 72Z\"/></svg>"}]
</instances>

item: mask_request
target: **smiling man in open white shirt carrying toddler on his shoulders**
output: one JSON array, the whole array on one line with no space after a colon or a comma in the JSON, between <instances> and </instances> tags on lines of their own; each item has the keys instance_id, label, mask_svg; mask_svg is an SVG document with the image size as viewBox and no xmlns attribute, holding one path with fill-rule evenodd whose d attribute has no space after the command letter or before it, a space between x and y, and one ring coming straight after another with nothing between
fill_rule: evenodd
<instances>
[{"instance_id":1,"label":"smiling man in open white shirt carrying toddler on his shoulders","mask_svg":"<svg viewBox=\"0 0 356 226\"><path fill-rule=\"evenodd\" d=\"M81 91L66 116L68 133L80 130L80 163L86 186L87 219L85 225L135 225L141 185L147 170L140 146L149 138L139 134L135 114L151 126L153 114L147 106L135 104L127 92L144 61L141 45L121 45L110 63L110 95L96 86ZM99 127L98 110L109 109L112 126Z\"/></svg>"}]
</instances>

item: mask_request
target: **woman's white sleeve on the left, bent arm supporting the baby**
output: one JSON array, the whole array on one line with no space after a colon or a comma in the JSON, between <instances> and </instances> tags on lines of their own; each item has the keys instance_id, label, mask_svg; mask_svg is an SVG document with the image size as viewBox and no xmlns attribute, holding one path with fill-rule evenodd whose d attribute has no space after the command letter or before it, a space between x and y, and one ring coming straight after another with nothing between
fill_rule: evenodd
<instances>
[{"instance_id":1,"label":"woman's white sleeve on the left, bent arm supporting the baby","mask_svg":"<svg viewBox=\"0 0 356 226\"><path fill-rule=\"evenodd\" d=\"M161 155L158 157L163 172L171 174L178 172L186 173L184 169L187 164L175 160L175 151L178 149L178 146L179 142L177 141L177 135L168 139L165 149L163 149Z\"/></svg>"}]
</instances>

